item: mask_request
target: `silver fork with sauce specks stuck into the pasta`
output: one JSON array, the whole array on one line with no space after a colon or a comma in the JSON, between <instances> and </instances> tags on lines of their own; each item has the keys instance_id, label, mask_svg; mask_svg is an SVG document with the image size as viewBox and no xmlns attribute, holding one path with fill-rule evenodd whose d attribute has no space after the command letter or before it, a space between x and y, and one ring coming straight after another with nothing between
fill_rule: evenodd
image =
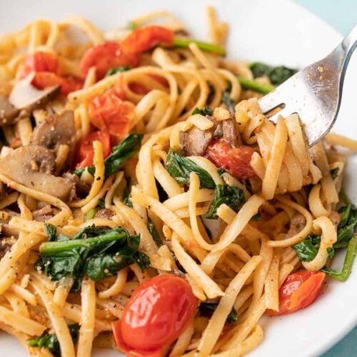
<instances>
[{"instance_id":1,"label":"silver fork with sauce specks stuck into the pasta","mask_svg":"<svg viewBox=\"0 0 357 357\"><path fill-rule=\"evenodd\" d=\"M301 69L274 91L259 100L264 114L282 108L269 119L276 121L297 113L304 126L308 145L313 146L330 131L341 104L343 79L357 47L357 26L331 54Z\"/></svg>"}]
</instances>

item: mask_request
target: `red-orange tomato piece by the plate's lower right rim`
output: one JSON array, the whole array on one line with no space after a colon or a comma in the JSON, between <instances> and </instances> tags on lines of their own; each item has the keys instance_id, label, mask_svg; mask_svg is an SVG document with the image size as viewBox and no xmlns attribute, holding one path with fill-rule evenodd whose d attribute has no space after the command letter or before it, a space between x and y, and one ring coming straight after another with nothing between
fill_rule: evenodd
<instances>
[{"instance_id":1,"label":"red-orange tomato piece by the plate's lower right rim","mask_svg":"<svg viewBox=\"0 0 357 357\"><path fill-rule=\"evenodd\" d=\"M278 316L306 308L321 292L325 276L322 271L296 271L290 274L279 290L279 311L268 310L267 314Z\"/></svg>"}]
</instances>

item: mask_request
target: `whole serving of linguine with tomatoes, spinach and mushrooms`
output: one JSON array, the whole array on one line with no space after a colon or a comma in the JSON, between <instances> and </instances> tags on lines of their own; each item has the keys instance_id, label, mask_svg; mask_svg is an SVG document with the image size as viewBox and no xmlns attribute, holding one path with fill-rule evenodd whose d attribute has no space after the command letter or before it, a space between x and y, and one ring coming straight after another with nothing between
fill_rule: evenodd
<instances>
[{"instance_id":1,"label":"whole serving of linguine with tomatoes, spinach and mushrooms","mask_svg":"<svg viewBox=\"0 0 357 357\"><path fill-rule=\"evenodd\" d=\"M263 315L350 275L357 142L270 121L258 99L296 69L227 59L212 8L208 29L156 11L1 36L0 329L29 356L243 356Z\"/></svg>"}]
</instances>

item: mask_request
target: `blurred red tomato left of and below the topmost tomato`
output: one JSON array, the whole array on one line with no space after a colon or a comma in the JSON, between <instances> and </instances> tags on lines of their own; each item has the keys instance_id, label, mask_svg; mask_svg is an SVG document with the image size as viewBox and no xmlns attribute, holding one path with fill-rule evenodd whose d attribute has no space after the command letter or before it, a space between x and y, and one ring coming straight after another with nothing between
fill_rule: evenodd
<instances>
[{"instance_id":1,"label":"blurred red tomato left of and below the topmost tomato","mask_svg":"<svg viewBox=\"0 0 357 357\"><path fill-rule=\"evenodd\" d=\"M91 67L95 66L97 79L102 79L109 69L119 66L136 66L137 64L137 54L124 53L119 43L109 41L88 49L79 66L84 76Z\"/></svg>"}]
</instances>

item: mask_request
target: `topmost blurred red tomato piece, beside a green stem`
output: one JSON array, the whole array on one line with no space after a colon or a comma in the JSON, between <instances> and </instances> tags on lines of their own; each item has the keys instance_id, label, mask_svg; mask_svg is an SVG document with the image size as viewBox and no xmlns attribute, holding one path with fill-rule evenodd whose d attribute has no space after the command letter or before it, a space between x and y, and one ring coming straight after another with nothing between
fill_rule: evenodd
<instances>
[{"instance_id":1,"label":"topmost blurred red tomato piece, beside a green stem","mask_svg":"<svg viewBox=\"0 0 357 357\"><path fill-rule=\"evenodd\" d=\"M146 26L135 29L121 41L121 48L126 54L149 51L158 44L170 46L174 42L174 31L163 26Z\"/></svg>"}]
</instances>

